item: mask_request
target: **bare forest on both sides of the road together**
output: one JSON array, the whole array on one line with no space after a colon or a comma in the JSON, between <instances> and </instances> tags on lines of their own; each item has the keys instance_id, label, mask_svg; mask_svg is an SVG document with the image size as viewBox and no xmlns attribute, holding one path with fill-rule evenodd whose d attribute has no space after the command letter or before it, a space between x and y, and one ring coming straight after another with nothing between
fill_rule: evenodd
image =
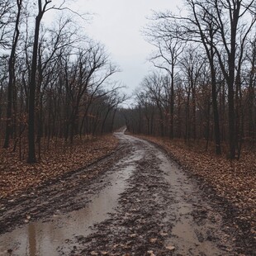
<instances>
[{"instance_id":1,"label":"bare forest on both sides of the road together","mask_svg":"<svg viewBox=\"0 0 256 256\"><path fill-rule=\"evenodd\" d=\"M127 97L111 80L120 70L104 45L81 32L70 15L41 24L46 12L64 12L62 4L40 2L35 22L29 12L35 5L2 0L3 148L12 145L33 163L42 140L49 147L59 138L72 144L76 136L111 132L117 111L119 126L125 118L134 133L187 145L200 141L230 159L239 159L243 147L254 149L255 3L187 1L186 7L186 16L150 17L143 34L155 48L149 56L154 69L135 91L135 106L122 109Z\"/></svg>"}]
</instances>

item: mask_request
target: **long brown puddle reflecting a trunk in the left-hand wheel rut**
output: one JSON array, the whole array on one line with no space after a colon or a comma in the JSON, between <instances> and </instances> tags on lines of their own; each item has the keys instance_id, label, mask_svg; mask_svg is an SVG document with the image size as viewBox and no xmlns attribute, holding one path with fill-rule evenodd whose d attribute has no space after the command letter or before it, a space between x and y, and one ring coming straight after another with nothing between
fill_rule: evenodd
<instances>
[{"instance_id":1,"label":"long brown puddle reflecting a trunk in the left-hand wheel rut","mask_svg":"<svg viewBox=\"0 0 256 256\"><path fill-rule=\"evenodd\" d=\"M115 211L118 198L125 191L126 181L135 168L130 164L132 158L130 156L117 162L114 172L107 176L110 185L90 197L91 202L83 209L66 215L59 213L59 216L56 214L50 221L32 222L1 235L0 255L55 256L59 255L58 249L64 249L69 239L92 233L92 225L106 220L108 213Z\"/></svg>"}]
</instances>

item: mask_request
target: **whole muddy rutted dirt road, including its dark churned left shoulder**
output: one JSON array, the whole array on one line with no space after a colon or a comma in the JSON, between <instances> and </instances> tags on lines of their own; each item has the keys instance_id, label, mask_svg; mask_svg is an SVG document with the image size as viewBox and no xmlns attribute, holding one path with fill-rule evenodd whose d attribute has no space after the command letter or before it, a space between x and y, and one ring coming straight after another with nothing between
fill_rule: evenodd
<instances>
[{"instance_id":1,"label":"whole muddy rutted dirt road, including its dark churned left shoulder","mask_svg":"<svg viewBox=\"0 0 256 256\"><path fill-rule=\"evenodd\" d=\"M211 190L116 136L106 159L0 202L0 255L253 255Z\"/></svg>"}]
</instances>

